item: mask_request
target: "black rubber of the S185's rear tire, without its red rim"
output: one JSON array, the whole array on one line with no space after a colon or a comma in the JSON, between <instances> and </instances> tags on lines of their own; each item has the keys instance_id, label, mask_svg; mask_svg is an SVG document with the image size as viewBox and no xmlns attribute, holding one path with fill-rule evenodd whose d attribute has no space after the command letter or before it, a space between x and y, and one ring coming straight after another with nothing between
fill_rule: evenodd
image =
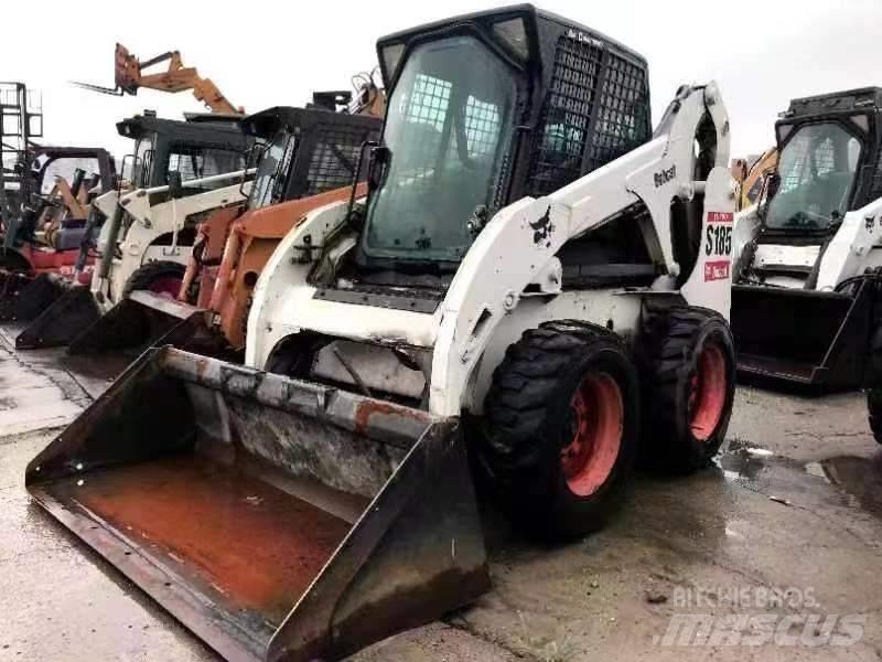
<instances>
[{"instance_id":1,"label":"black rubber of the S185's rear tire, without its red rim","mask_svg":"<svg viewBox=\"0 0 882 662\"><path fill-rule=\"evenodd\" d=\"M675 307L645 313L638 364L643 387L641 463L668 473L707 467L720 450L735 397L735 350L725 319L713 310ZM723 409L699 440L690 425L689 394L699 356L714 344L725 360Z\"/></svg>"}]
</instances>

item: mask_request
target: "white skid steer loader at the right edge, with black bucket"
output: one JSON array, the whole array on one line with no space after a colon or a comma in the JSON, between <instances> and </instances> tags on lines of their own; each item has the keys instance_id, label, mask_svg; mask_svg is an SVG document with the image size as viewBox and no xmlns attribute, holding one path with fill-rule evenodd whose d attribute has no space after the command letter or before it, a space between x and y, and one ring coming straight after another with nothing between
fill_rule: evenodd
<instances>
[{"instance_id":1,"label":"white skid steer loader at the right edge, with black bucket","mask_svg":"<svg viewBox=\"0 0 882 662\"><path fill-rule=\"evenodd\" d=\"M813 388L863 383L876 286L862 276L882 263L873 215L859 210L882 196L881 119L882 90L867 88L794 99L776 122L776 171L735 229L743 375Z\"/></svg>"}]
</instances>

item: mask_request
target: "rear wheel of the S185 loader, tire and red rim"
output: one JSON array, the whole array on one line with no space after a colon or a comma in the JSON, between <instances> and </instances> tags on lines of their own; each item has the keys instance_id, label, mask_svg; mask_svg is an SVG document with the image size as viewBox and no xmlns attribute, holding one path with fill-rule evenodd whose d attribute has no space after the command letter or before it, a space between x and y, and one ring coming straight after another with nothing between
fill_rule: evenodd
<instances>
[{"instance_id":1,"label":"rear wheel of the S185 loader, tire and red rim","mask_svg":"<svg viewBox=\"0 0 882 662\"><path fill-rule=\"evenodd\" d=\"M704 308L646 314L643 460L688 473L707 466L725 439L735 395L732 332L722 316Z\"/></svg>"}]
</instances>

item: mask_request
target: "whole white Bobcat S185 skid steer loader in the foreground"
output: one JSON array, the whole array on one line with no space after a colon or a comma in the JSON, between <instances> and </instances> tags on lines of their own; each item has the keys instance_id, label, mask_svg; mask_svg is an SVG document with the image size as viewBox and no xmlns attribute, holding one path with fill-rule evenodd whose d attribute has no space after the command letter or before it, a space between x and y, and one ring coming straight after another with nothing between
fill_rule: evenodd
<instances>
[{"instance_id":1,"label":"whole white Bobcat S185 skid steer loader in the foreground","mask_svg":"<svg viewBox=\"0 0 882 662\"><path fill-rule=\"evenodd\" d=\"M572 536L641 438L690 470L729 421L717 87L650 135L645 61L531 6L378 52L367 199L282 241L249 365L151 350L28 468L229 660L336 660L485 591L471 455L517 524Z\"/></svg>"}]
</instances>

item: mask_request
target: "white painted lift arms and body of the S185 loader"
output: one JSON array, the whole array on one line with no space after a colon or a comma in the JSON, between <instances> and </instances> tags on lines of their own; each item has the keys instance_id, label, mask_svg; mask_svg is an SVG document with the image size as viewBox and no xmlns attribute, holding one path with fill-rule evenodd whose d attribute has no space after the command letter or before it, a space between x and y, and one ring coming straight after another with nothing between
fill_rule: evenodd
<instances>
[{"instance_id":1,"label":"white painted lift arms and body of the S185 loader","mask_svg":"<svg viewBox=\"0 0 882 662\"><path fill-rule=\"evenodd\" d=\"M728 169L729 119L713 84L686 88L648 143L548 196L525 197L499 210L475 238L433 314L312 299L314 288L306 281L312 265L292 259L295 247L306 235L312 246L322 246L343 223L347 205L329 205L309 214L282 239L257 282L246 364L266 367L273 348L301 330L427 348L432 352L428 408L441 416L456 416L463 408L481 410L493 370L506 348L544 321L580 319L612 327L627 339L637 324L642 299L671 293L728 318L731 243L716 255L702 249L682 288L676 292L670 287L679 274L670 241L670 205L673 199L690 197L695 190L693 139L706 111L717 127L718 149L714 168L700 184L706 195L703 247L711 225L731 228L735 209ZM560 247L638 202L652 216L652 223L643 227L650 256L667 275L643 290L561 292L556 257ZM526 293L535 282L546 293Z\"/></svg>"}]
</instances>

